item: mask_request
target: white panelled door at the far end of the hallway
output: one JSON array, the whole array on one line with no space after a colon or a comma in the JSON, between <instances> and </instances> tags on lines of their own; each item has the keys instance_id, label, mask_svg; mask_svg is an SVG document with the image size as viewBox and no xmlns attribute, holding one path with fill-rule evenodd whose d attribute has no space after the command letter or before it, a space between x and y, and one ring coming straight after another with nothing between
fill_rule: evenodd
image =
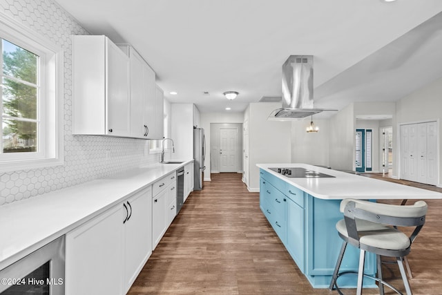
<instances>
[{"instance_id":1,"label":"white panelled door at the far end of the hallway","mask_svg":"<svg viewBox=\"0 0 442 295\"><path fill-rule=\"evenodd\" d=\"M238 129L220 129L220 172L238 172Z\"/></svg>"}]
</instances>

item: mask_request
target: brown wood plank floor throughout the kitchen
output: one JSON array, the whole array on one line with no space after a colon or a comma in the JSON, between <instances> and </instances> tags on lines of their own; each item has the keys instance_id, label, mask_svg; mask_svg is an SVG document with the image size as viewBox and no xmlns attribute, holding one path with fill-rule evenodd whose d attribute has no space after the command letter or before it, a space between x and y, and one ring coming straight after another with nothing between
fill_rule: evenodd
<instances>
[{"instance_id":1,"label":"brown wood plank floor throughout the kitchen","mask_svg":"<svg viewBox=\"0 0 442 295\"><path fill-rule=\"evenodd\" d=\"M191 193L128 294L338 294L311 288L260 211L259 193L249 193L240 174L211 178ZM427 203L427 223L409 255L415 295L442 294L442 204ZM403 289L396 268L389 265L384 276Z\"/></svg>"}]
</instances>

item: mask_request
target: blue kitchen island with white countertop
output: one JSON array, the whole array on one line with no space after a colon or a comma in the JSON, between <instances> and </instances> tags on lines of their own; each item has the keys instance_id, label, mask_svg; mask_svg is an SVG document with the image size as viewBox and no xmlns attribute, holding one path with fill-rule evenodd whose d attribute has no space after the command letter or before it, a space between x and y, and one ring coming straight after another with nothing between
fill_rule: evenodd
<instances>
[{"instance_id":1,"label":"blue kitchen island with white countertop","mask_svg":"<svg viewBox=\"0 0 442 295\"><path fill-rule=\"evenodd\" d=\"M287 251L315 288L329 287L342 239L335 225L345 198L440 199L441 193L308 164L257 164L260 168L260 209ZM306 175L283 175L277 168L309 171ZM302 174L302 173L301 173ZM326 175L318 177L318 175ZM296 176L296 177L294 177ZM349 249L350 247L350 249ZM359 250L347 246L340 272L358 270ZM376 256L365 260L365 273L376 272ZM356 287L356 275L338 278L340 287ZM365 287L377 287L365 279Z\"/></svg>"}]
</instances>

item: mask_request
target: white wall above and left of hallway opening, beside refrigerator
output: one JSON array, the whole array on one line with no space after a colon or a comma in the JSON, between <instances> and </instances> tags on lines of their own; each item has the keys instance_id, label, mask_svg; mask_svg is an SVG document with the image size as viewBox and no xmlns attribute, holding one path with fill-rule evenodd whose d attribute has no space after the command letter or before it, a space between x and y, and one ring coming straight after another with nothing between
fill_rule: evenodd
<instances>
[{"instance_id":1,"label":"white wall above and left of hallway opening, beside refrigerator","mask_svg":"<svg viewBox=\"0 0 442 295\"><path fill-rule=\"evenodd\" d=\"M244 120L243 113L230 113L230 112L222 112L222 113L200 113L200 126L204 129L204 135L206 135L206 144L209 145L211 142L211 132L210 125L211 123L240 123ZM242 153L241 153L242 154ZM211 150L207 149L206 151L206 161L204 165L206 166L206 173L204 173L204 180L209 181L211 171Z\"/></svg>"}]
</instances>

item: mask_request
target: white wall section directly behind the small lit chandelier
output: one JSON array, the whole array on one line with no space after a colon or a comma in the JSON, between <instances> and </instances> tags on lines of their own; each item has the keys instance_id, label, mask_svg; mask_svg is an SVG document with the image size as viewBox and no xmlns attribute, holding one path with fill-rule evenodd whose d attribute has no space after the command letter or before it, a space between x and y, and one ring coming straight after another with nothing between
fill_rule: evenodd
<instances>
[{"instance_id":1,"label":"white wall section directly behind the small lit chandelier","mask_svg":"<svg viewBox=\"0 0 442 295\"><path fill-rule=\"evenodd\" d=\"M307 133L308 120L291 122L291 162L329 166L329 120L315 120L318 133Z\"/></svg>"}]
</instances>

